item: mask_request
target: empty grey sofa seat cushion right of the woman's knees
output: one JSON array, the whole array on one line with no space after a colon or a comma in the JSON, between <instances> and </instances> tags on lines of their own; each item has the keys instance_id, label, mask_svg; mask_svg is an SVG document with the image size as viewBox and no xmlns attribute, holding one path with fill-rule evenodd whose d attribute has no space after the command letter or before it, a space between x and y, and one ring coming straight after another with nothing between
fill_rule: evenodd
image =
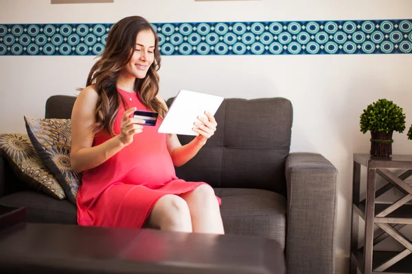
<instances>
[{"instance_id":1,"label":"empty grey sofa seat cushion right of the woman's knees","mask_svg":"<svg viewBox=\"0 0 412 274\"><path fill-rule=\"evenodd\" d=\"M282 248L286 238L286 198L276 192L248 188L214 188L222 199L225 233L263 236L277 240Z\"/></svg>"}]
</instances>

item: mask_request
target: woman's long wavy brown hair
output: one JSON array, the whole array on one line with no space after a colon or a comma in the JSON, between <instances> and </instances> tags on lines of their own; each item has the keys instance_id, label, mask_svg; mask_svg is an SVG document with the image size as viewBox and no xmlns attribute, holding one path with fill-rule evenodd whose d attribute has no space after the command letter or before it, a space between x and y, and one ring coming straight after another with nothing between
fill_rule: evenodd
<instances>
[{"instance_id":1,"label":"woman's long wavy brown hair","mask_svg":"<svg viewBox=\"0 0 412 274\"><path fill-rule=\"evenodd\" d=\"M95 112L96 123L93 125L93 132L97 133L103 129L111 136L115 135L113 124L119 112L119 99L122 100L125 110L127 105L123 97L118 95L116 88L117 77L133 56L137 34L148 30L155 35L155 60L149 67L146 77L135 80L134 90L137 92L137 98L146 108L159 112L159 118L164 118L165 107L156 98L159 93L159 75L157 71L160 69L161 61L158 48L159 38L157 38L155 30L145 18L129 16L113 25L108 33L104 52L100 55L100 59L92 66L89 77L87 77L87 86L94 84L99 95Z\"/></svg>"}]
</instances>

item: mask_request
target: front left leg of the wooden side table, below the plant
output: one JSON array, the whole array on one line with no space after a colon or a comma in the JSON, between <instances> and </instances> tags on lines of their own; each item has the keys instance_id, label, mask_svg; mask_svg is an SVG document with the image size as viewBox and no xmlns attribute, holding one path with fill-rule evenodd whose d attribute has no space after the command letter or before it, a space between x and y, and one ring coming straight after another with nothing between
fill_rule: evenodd
<instances>
[{"instance_id":1,"label":"front left leg of the wooden side table, below the plant","mask_svg":"<svg viewBox=\"0 0 412 274\"><path fill-rule=\"evenodd\" d=\"M366 209L365 209L365 248L363 253L363 274L372 273L374 251L374 214L375 214L376 169L367 169Z\"/></svg>"}]
</instances>

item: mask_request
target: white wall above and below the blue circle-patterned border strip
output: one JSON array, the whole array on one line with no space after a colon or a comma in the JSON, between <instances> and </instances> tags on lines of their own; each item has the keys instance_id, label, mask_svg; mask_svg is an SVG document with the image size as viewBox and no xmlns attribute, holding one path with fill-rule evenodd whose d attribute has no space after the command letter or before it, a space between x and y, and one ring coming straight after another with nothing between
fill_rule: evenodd
<instances>
[{"instance_id":1,"label":"white wall above and below the blue circle-patterned border strip","mask_svg":"<svg viewBox=\"0 0 412 274\"><path fill-rule=\"evenodd\" d=\"M50 5L49 0L0 0L0 23L115 23L141 15L150 22L321 21L412 18L412 1L115 0L112 4ZM164 56L161 94L180 89L224 97L286 97L293 103L291 151L323 154L339 169L338 252L350 236L352 154L369 151L359 116L380 98L398 103L412 123L412 54ZM93 64L88 56L0 57L0 132L25 132L23 115L44 115L51 95L74 95ZM406 130L407 131L407 130ZM394 153L412 141L394 134Z\"/></svg>"}]
</instances>

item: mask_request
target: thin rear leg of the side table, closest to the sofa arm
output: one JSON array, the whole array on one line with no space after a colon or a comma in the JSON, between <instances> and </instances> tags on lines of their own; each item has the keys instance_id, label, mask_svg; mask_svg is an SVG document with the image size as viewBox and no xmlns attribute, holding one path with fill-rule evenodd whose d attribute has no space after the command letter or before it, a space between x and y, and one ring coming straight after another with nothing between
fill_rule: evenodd
<instances>
[{"instance_id":1,"label":"thin rear leg of the side table, closest to the sofa arm","mask_svg":"<svg viewBox=\"0 0 412 274\"><path fill-rule=\"evenodd\" d=\"M361 164L354 162L353 184L352 184L352 228L350 236L350 274L358 273L358 266L354 261L352 253L356 254L359 245L359 216L354 212L354 203L361 201Z\"/></svg>"}]
</instances>

